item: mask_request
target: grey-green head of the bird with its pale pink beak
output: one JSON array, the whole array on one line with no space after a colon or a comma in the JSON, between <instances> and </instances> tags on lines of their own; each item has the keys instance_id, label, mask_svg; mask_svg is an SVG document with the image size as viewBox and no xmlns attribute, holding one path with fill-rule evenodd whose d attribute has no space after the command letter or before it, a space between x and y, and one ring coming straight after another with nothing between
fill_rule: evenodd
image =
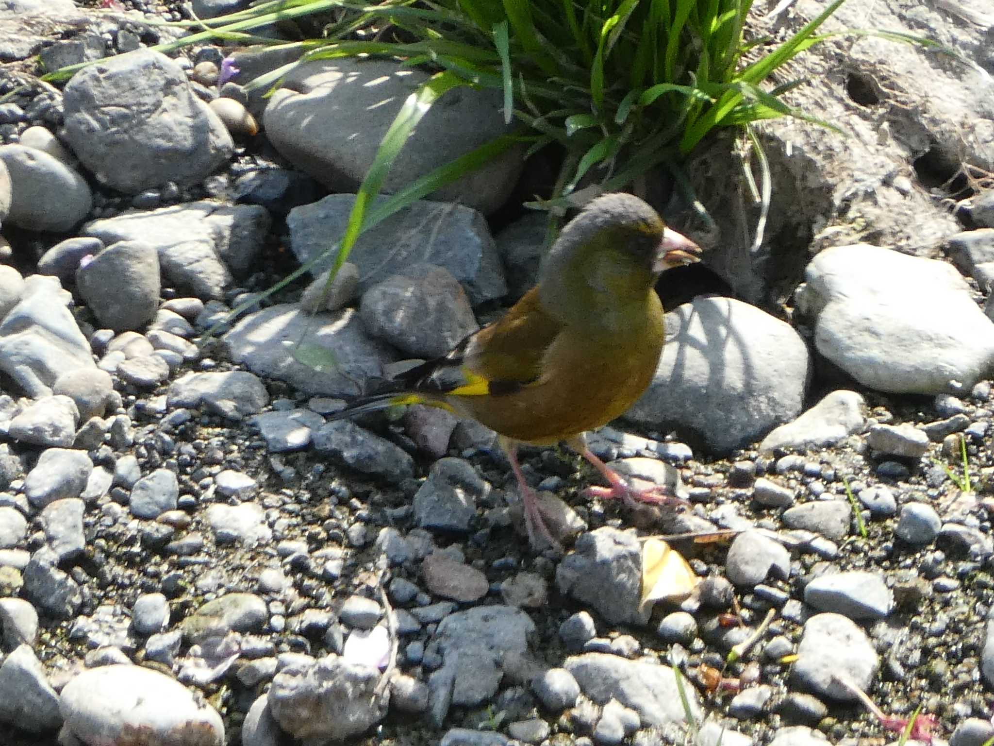
<instances>
[{"instance_id":1,"label":"grey-green head of the bird with its pale pink beak","mask_svg":"<svg viewBox=\"0 0 994 746\"><path fill-rule=\"evenodd\" d=\"M701 248L667 228L643 200L631 194L605 194L592 200L563 229L547 255L541 283L578 280L595 292L625 297L644 295L660 273L700 261Z\"/></svg>"}]
</instances>

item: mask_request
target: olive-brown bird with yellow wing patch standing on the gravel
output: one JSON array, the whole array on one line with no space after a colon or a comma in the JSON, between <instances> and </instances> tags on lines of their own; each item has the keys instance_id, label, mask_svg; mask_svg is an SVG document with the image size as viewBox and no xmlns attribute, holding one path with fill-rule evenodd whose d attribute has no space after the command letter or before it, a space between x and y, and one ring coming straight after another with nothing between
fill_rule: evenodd
<instances>
[{"instance_id":1,"label":"olive-brown bird with yellow wing patch standing on the gravel","mask_svg":"<svg viewBox=\"0 0 994 746\"><path fill-rule=\"evenodd\" d=\"M682 504L658 489L628 484L587 448L584 434L622 415L648 388L664 341L654 285L661 273L700 256L697 244L668 228L642 199L603 194L563 228L542 258L535 287L502 317L446 355L351 401L335 419L426 404L496 431L533 547L541 536L562 549L522 472L521 445L565 442L609 485L587 494L630 505Z\"/></svg>"}]
</instances>

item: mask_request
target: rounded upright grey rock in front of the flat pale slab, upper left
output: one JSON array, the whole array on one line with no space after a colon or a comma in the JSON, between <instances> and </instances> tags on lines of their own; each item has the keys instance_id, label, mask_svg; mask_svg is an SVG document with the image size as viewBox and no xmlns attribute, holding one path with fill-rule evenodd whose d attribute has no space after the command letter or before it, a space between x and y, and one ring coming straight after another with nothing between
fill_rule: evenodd
<instances>
[{"instance_id":1,"label":"rounded upright grey rock in front of the flat pale slab, upper left","mask_svg":"<svg viewBox=\"0 0 994 746\"><path fill-rule=\"evenodd\" d=\"M139 329L159 303L159 257L145 243L118 241L80 265L76 283L96 320L114 331Z\"/></svg>"}]
</instances>

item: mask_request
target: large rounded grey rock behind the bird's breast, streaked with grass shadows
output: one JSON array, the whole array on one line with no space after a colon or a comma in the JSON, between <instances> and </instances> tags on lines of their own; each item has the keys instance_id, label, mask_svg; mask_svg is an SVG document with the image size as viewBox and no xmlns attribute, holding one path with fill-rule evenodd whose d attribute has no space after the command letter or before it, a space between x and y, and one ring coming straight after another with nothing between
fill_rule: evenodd
<instances>
[{"instance_id":1,"label":"large rounded grey rock behind the bird's breast, streaked with grass shadows","mask_svg":"<svg viewBox=\"0 0 994 746\"><path fill-rule=\"evenodd\" d=\"M739 300L699 297L666 314L666 338L652 383L626 418L691 433L724 453L800 414L808 352L785 322Z\"/></svg>"}]
</instances>

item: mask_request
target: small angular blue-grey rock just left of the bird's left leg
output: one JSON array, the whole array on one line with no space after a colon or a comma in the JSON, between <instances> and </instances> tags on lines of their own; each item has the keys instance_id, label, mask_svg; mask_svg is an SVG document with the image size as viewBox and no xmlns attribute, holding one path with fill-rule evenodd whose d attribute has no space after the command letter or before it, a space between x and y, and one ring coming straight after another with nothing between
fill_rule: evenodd
<instances>
[{"instance_id":1,"label":"small angular blue-grey rock just left of the bird's left leg","mask_svg":"<svg viewBox=\"0 0 994 746\"><path fill-rule=\"evenodd\" d=\"M440 459L414 493L414 519L421 528L466 532L476 516L477 501L489 493L489 482L468 462Z\"/></svg>"}]
</instances>

